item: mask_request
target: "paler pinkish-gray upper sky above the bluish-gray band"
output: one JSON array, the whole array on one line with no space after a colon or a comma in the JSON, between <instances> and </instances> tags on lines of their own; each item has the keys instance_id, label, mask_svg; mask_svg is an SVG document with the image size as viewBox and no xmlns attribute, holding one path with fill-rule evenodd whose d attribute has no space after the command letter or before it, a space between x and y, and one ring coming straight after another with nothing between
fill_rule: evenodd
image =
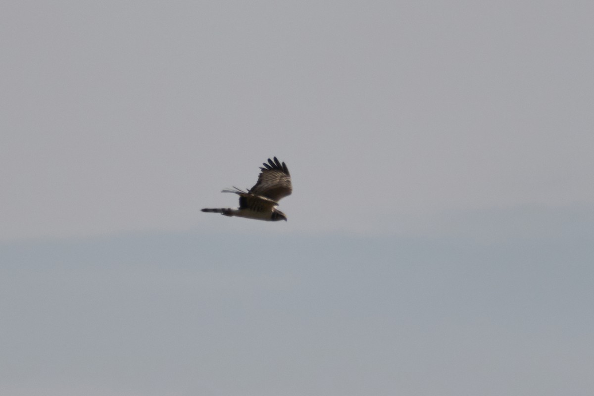
<instances>
[{"instance_id":1,"label":"paler pinkish-gray upper sky above the bluish-gray band","mask_svg":"<svg viewBox=\"0 0 594 396\"><path fill-rule=\"evenodd\" d=\"M5 5L0 237L226 229L270 156L284 230L592 205L592 5L322 3Z\"/></svg>"}]
</instances>

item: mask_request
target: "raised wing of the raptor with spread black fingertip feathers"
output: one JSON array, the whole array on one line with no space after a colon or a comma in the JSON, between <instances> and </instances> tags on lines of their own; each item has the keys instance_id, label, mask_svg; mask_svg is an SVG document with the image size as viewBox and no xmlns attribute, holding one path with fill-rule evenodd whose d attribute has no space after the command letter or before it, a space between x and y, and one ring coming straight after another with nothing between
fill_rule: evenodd
<instances>
[{"instance_id":1,"label":"raised wing of the raptor with spread black fingertip feathers","mask_svg":"<svg viewBox=\"0 0 594 396\"><path fill-rule=\"evenodd\" d=\"M260 168L262 172L258 176L258 182L248 190L248 193L270 198L275 202L290 195L293 186L285 163L281 163L274 157L274 160L268 159L268 163L265 162L263 165L264 167Z\"/></svg>"}]
</instances>

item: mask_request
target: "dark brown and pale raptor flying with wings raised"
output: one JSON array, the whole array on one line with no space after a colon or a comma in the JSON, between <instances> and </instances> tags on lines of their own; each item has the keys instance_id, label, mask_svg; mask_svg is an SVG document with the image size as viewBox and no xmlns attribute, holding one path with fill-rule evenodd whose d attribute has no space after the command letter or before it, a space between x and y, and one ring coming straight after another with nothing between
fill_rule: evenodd
<instances>
[{"instance_id":1,"label":"dark brown and pale raptor flying with wings raised","mask_svg":"<svg viewBox=\"0 0 594 396\"><path fill-rule=\"evenodd\" d=\"M274 160L268 159L268 163L263 163L264 167L260 169L258 182L248 191L243 191L237 187L225 189L222 192L232 192L239 195L239 208L204 208L203 212L220 213L225 216L238 216L254 218L255 220L266 221L287 221L287 217L276 207L281 198L290 195L293 191L291 186L291 176L285 163L281 163L274 157Z\"/></svg>"}]
</instances>

